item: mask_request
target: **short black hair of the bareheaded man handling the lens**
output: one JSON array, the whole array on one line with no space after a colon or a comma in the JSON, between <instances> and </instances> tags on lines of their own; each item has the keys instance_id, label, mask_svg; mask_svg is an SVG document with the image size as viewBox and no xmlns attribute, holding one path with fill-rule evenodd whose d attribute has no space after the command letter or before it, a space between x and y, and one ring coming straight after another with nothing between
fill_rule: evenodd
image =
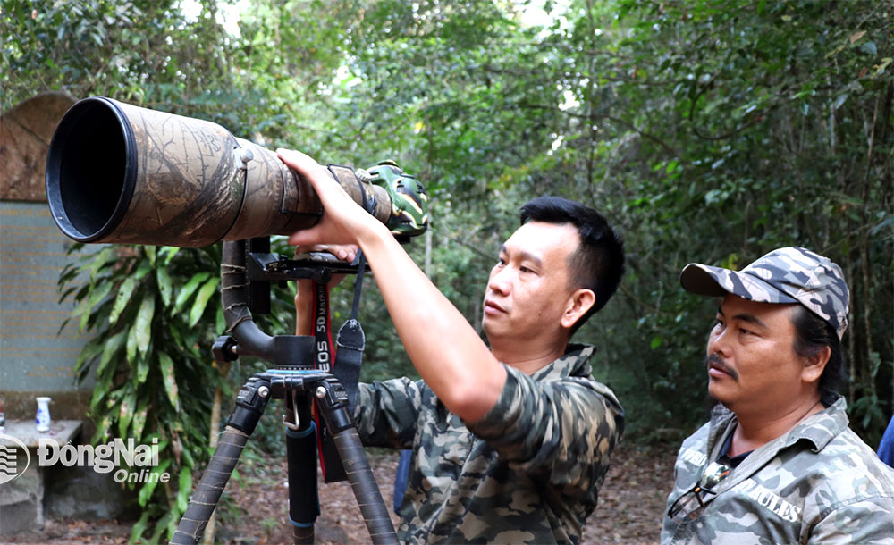
<instances>
[{"instance_id":1,"label":"short black hair of the bareheaded man handling the lens","mask_svg":"<svg viewBox=\"0 0 894 545\"><path fill-rule=\"evenodd\" d=\"M578 229L580 245L569 256L569 271L576 288L591 289L596 300L571 328L578 331L591 315L608 303L624 274L624 242L589 206L562 197L537 197L521 207L521 223L570 223Z\"/></svg>"}]
</instances>

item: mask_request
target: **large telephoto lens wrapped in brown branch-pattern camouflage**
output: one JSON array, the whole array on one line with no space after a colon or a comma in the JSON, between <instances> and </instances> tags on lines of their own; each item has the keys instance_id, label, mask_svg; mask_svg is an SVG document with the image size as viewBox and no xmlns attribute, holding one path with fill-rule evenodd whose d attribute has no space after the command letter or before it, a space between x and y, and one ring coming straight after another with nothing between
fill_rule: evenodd
<instances>
[{"instance_id":1,"label":"large telephoto lens wrapped in brown branch-pattern camouflage","mask_svg":"<svg viewBox=\"0 0 894 545\"><path fill-rule=\"evenodd\" d=\"M337 179L388 221L383 188ZM322 213L308 181L274 152L213 122L104 97L81 100L59 122L46 195L56 224L79 242L203 247L291 234Z\"/></svg>"}]
</instances>

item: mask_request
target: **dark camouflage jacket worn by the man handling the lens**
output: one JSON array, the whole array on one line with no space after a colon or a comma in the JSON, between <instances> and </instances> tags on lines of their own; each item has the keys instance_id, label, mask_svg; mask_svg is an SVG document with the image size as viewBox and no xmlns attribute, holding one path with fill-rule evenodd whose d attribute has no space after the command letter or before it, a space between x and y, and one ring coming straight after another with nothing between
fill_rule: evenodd
<instances>
[{"instance_id":1,"label":"dark camouflage jacket worn by the man handling the lens","mask_svg":"<svg viewBox=\"0 0 894 545\"><path fill-rule=\"evenodd\" d=\"M423 381L361 384L360 438L413 449L401 541L577 543L624 427L590 377L594 350L569 347L532 376L507 366L497 404L468 427Z\"/></svg>"}]
</instances>

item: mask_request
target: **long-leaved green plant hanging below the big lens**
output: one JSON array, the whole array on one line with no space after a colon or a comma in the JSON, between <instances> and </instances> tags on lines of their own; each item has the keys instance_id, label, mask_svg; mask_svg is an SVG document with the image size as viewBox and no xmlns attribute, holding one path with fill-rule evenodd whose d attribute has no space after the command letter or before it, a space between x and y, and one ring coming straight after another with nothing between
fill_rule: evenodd
<instances>
[{"instance_id":1,"label":"long-leaved green plant hanging below the big lens","mask_svg":"<svg viewBox=\"0 0 894 545\"><path fill-rule=\"evenodd\" d=\"M77 303L70 319L93 335L76 363L81 381L96 376L92 442L158 440L152 473L170 474L161 484L129 483L139 489L142 508L131 541L156 519L149 541L173 534L189 502L192 471L209 458L215 388L229 390L210 354L216 332L223 331L219 264L219 246L109 246L69 264L59 279L62 298Z\"/></svg>"}]
</instances>

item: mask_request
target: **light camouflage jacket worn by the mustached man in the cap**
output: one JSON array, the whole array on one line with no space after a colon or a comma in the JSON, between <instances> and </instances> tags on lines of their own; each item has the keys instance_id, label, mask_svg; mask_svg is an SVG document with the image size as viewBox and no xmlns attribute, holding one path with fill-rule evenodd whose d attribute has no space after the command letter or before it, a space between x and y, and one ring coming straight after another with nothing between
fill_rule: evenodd
<instances>
[{"instance_id":1,"label":"light camouflage jacket worn by the mustached man in the cap","mask_svg":"<svg viewBox=\"0 0 894 545\"><path fill-rule=\"evenodd\" d=\"M894 544L894 470L848 428L838 398L789 433L755 449L704 496L671 519L662 544ZM683 442L668 507L693 489L720 454L736 418L715 407L710 423Z\"/></svg>"}]
</instances>

